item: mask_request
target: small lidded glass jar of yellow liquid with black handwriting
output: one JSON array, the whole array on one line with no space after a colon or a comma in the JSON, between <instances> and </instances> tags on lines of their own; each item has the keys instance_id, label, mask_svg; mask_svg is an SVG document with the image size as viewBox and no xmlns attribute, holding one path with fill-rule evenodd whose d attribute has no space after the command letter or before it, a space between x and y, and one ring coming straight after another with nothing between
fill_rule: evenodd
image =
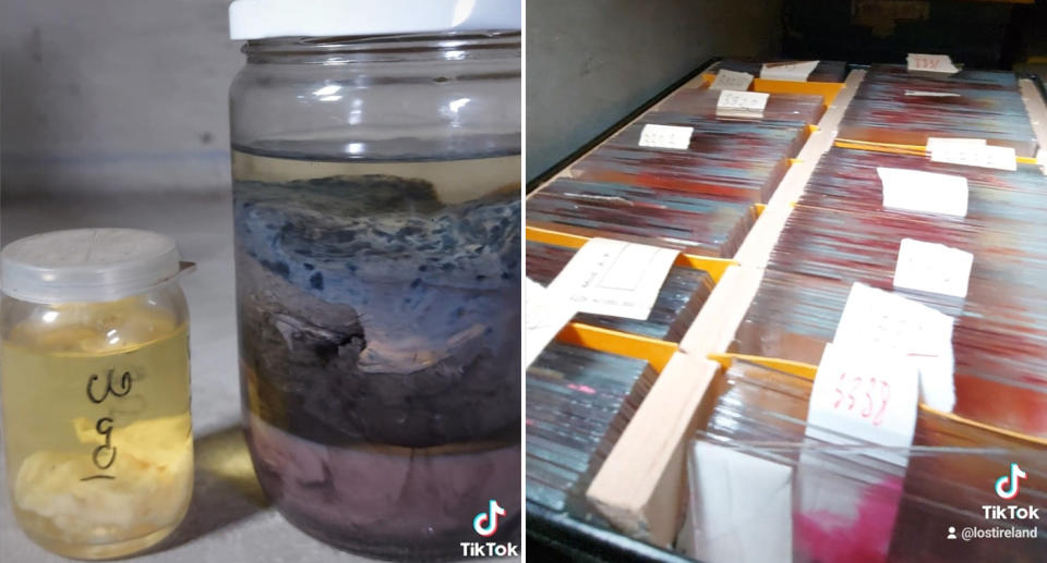
<instances>
[{"instance_id":1,"label":"small lidded glass jar of yellow liquid with black handwriting","mask_svg":"<svg viewBox=\"0 0 1047 563\"><path fill-rule=\"evenodd\" d=\"M168 236L81 229L0 258L8 490L36 543L76 559L142 551L193 490L189 310Z\"/></svg>"}]
</instances>

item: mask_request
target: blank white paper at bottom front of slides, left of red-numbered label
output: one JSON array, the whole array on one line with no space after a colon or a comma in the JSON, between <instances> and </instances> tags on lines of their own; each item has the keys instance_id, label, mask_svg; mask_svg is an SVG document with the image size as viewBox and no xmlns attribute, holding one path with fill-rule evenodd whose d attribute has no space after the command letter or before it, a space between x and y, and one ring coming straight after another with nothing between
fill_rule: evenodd
<instances>
[{"instance_id":1,"label":"blank white paper at bottom front of slides, left of red-numbered label","mask_svg":"<svg viewBox=\"0 0 1047 563\"><path fill-rule=\"evenodd\" d=\"M686 553L709 563L791 561L793 468L705 441L693 455Z\"/></svg>"}]
</instances>

